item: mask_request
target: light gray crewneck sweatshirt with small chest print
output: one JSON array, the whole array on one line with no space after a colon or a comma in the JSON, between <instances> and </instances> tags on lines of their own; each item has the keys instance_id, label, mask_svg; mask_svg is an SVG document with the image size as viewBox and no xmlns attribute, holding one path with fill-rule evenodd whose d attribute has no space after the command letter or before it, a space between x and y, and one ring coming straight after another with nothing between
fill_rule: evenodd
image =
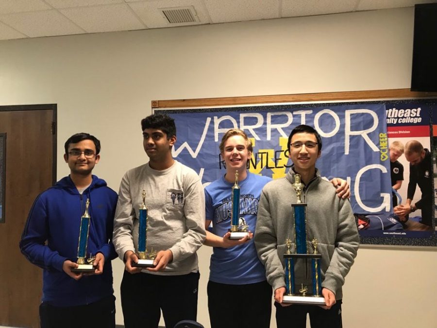
<instances>
[{"instance_id":1,"label":"light gray crewneck sweatshirt with small chest print","mask_svg":"<svg viewBox=\"0 0 437 328\"><path fill-rule=\"evenodd\" d=\"M147 248L173 253L173 261L157 275L197 272L197 249L205 240L205 198L201 180L194 170L175 161L164 171L149 163L129 170L118 192L113 243L120 259L138 249L138 216L146 190L148 207ZM150 273L149 271L143 270Z\"/></svg>"}]
</instances>

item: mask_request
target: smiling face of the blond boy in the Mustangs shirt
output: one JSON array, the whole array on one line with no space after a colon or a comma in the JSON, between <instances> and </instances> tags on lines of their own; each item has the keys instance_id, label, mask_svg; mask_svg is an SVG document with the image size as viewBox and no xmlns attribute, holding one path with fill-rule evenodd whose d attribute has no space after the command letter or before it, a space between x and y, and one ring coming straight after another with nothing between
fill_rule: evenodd
<instances>
[{"instance_id":1,"label":"smiling face of the blond boy in the Mustangs shirt","mask_svg":"<svg viewBox=\"0 0 437 328\"><path fill-rule=\"evenodd\" d=\"M227 172L242 172L246 170L246 164L252 153L247 149L248 142L239 135L226 139L221 153L226 163Z\"/></svg>"}]
</instances>

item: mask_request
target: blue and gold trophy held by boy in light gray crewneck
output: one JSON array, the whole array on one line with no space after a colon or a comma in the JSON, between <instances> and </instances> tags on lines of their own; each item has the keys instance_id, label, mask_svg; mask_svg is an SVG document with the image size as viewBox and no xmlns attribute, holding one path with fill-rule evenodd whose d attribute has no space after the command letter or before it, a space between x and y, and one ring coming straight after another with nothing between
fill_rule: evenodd
<instances>
[{"instance_id":1,"label":"blue and gold trophy held by boy in light gray crewneck","mask_svg":"<svg viewBox=\"0 0 437 328\"><path fill-rule=\"evenodd\" d=\"M134 267L152 268L153 260L156 257L156 252L153 252L153 248L149 253L147 251L147 207L146 190L141 193L143 196L143 204L139 207L139 224L138 224L138 263L132 263Z\"/></svg>"}]
</instances>

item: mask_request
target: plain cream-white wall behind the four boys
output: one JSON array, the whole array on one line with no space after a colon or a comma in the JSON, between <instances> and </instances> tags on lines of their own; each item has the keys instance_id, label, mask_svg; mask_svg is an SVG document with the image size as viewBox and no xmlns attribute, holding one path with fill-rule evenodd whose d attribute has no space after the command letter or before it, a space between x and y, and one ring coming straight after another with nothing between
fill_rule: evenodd
<instances>
[{"instance_id":1,"label":"plain cream-white wall behind the four boys","mask_svg":"<svg viewBox=\"0 0 437 328\"><path fill-rule=\"evenodd\" d=\"M412 8L1 41L0 104L58 104L58 178L64 141L85 131L102 143L95 173L118 190L147 159L140 120L151 100L408 88L412 41ZM210 249L199 254L208 327ZM437 327L436 263L434 250L360 249L344 326ZM116 260L117 297L122 271Z\"/></svg>"}]
</instances>

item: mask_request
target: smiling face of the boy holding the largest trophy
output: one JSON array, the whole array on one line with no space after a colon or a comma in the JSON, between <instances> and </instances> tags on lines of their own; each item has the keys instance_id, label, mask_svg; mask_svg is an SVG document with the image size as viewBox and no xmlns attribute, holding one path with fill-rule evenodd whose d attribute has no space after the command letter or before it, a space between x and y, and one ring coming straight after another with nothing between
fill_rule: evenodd
<instances>
[{"instance_id":1,"label":"smiling face of the boy holding the largest trophy","mask_svg":"<svg viewBox=\"0 0 437 328\"><path fill-rule=\"evenodd\" d=\"M313 148L305 146L306 142L316 143ZM300 147L294 145L302 144ZM291 138L288 157L293 161L294 169L297 173L311 173L316 169L316 161L320 157L319 145L317 144L317 138L312 133L296 133Z\"/></svg>"}]
</instances>

